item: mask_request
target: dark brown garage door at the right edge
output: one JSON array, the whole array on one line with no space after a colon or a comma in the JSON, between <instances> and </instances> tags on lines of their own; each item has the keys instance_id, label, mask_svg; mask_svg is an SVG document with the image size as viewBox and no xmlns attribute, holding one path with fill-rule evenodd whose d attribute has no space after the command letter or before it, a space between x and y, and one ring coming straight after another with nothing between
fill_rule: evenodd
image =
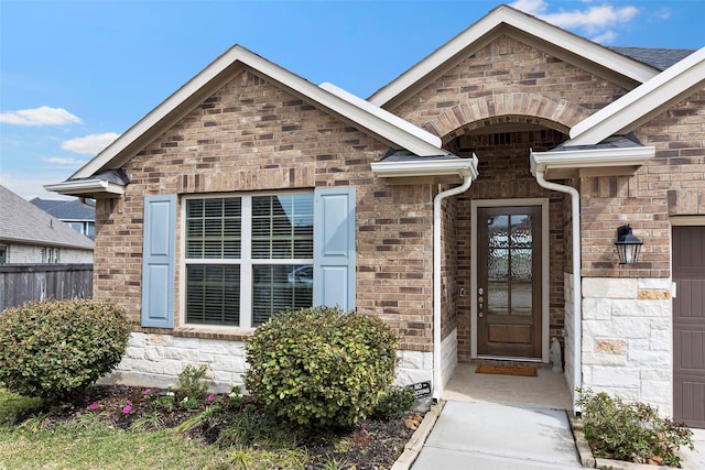
<instances>
[{"instance_id":1,"label":"dark brown garage door at the right edge","mask_svg":"<svg viewBox=\"0 0 705 470\"><path fill-rule=\"evenodd\" d=\"M705 428L705 227L673 227L673 417Z\"/></svg>"}]
</instances>

